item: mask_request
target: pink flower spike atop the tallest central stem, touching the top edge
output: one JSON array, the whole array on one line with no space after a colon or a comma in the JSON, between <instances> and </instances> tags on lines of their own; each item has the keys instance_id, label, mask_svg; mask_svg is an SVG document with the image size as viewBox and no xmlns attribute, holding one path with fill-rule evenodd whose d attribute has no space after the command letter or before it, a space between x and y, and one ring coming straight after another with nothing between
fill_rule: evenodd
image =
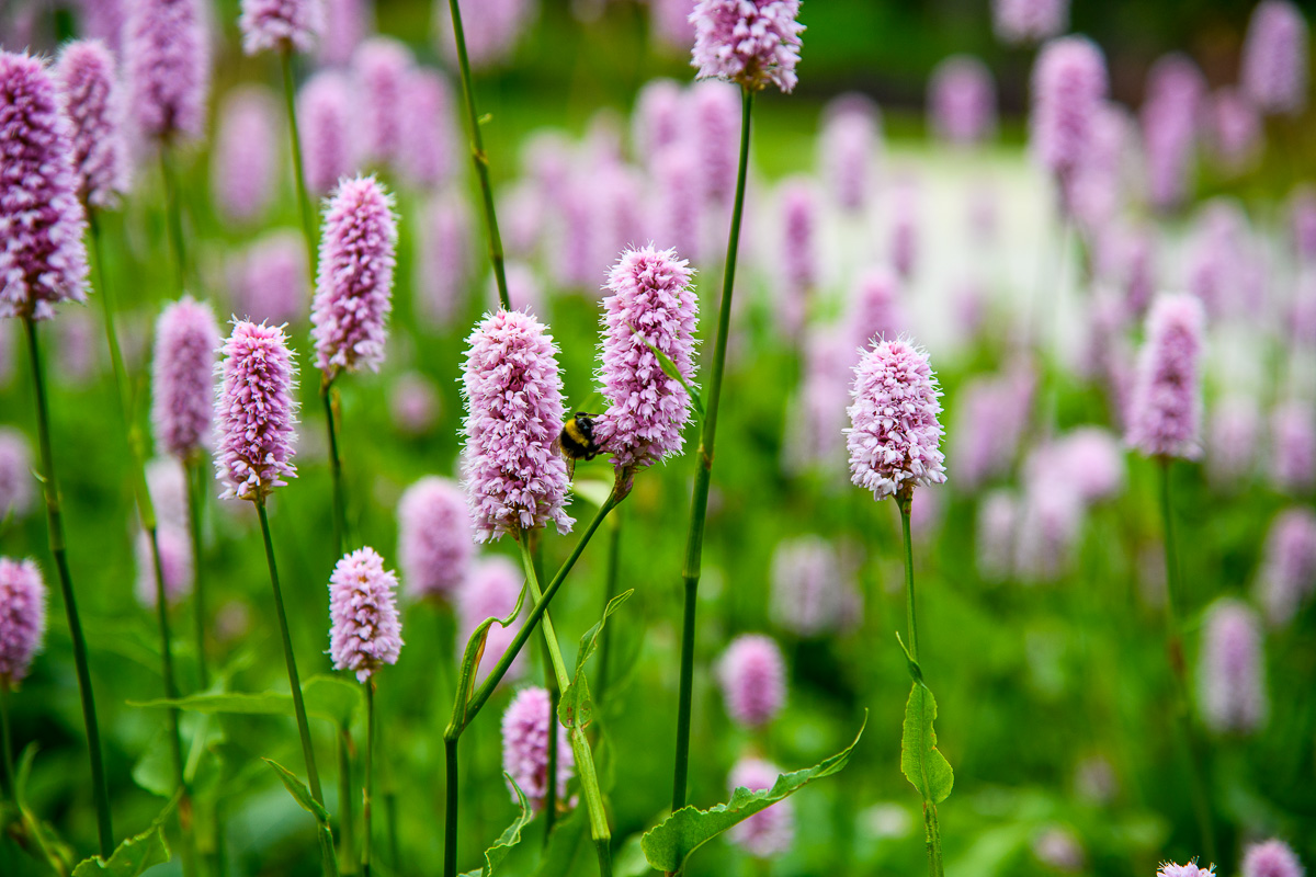
<instances>
[{"instance_id":1,"label":"pink flower spike atop the tallest central stem, touching the top edge","mask_svg":"<svg viewBox=\"0 0 1316 877\"><path fill-rule=\"evenodd\" d=\"M696 0L694 66L750 91L769 84L790 93L800 62L800 0Z\"/></svg>"}]
</instances>

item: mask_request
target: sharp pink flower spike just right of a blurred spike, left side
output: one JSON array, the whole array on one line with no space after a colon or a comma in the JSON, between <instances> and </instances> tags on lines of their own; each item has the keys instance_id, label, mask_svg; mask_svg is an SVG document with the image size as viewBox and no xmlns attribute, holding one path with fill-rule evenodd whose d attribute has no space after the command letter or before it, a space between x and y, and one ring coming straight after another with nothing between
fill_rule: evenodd
<instances>
[{"instance_id":1,"label":"sharp pink flower spike just right of a blurred spike, left side","mask_svg":"<svg viewBox=\"0 0 1316 877\"><path fill-rule=\"evenodd\" d=\"M236 321L221 352L215 401L220 498L261 502L297 473L296 364L282 326Z\"/></svg>"}]
</instances>

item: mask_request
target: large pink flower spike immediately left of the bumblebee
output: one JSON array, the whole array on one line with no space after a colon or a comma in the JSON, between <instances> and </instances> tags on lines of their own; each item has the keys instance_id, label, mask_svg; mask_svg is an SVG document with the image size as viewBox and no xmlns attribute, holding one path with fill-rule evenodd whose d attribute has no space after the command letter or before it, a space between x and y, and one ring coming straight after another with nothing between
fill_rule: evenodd
<instances>
[{"instance_id":1,"label":"large pink flower spike immediately left of the bumblebee","mask_svg":"<svg viewBox=\"0 0 1316 877\"><path fill-rule=\"evenodd\" d=\"M551 447L562 430L557 344L532 314L499 310L467 339L462 375L462 477L482 542L551 521L571 530L567 464Z\"/></svg>"}]
</instances>

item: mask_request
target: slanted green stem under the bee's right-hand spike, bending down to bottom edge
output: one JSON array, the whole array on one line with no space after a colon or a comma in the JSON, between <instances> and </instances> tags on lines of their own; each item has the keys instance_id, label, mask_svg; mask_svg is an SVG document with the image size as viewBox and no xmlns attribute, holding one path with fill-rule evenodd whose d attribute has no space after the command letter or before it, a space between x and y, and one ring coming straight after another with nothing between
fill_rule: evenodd
<instances>
[{"instance_id":1,"label":"slanted green stem under the bee's right-hand spike, bending down to bottom edge","mask_svg":"<svg viewBox=\"0 0 1316 877\"><path fill-rule=\"evenodd\" d=\"M471 723L471 719L480 711L486 702L488 702L490 696L497 688L497 684L507 675L512 661L521 652L526 640L534 632L536 626L540 623L540 618L549 610L549 604L553 602L553 597L557 596L558 589L562 588L562 582L566 581L567 573L575 567L576 560L584 552L584 547L590 544L590 539L599 530L599 526L608 517L608 513L616 508L621 500L617 496L616 488L608 496L607 501L599 506L597 514L590 521L590 525L580 534L576 540L575 547L567 556L566 561L558 569L557 575L553 576L553 581L549 584L547 589L544 592L544 598L537 600L534 606L530 607L530 614L521 625L520 630L516 631L516 636L508 644L503 656L490 671L490 675L484 678L484 682L475 689L470 699L466 701L466 692L458 690L453 697L453 718L449 721L447 727L443 730L443 749L445 749L445 784L446 784L446 809L443 818L443 877L457 877L457 809L458 809L458 774L457 774L457 742L462 736L462 731ZM592 767L592 765L591 765ZM607 844L604 844L607 847ZM605 848L599 848L600 857L607 853ZM600 864L601 866L601 864Z\"/></svg>"}]
</instances>

